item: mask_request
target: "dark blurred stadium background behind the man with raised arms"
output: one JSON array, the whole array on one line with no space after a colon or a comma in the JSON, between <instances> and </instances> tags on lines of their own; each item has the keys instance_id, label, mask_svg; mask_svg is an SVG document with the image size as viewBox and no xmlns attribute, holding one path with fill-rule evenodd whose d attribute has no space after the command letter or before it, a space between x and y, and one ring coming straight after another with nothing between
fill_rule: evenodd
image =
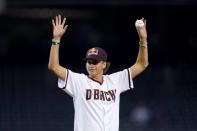
<instances>
[{"instance_id":1,"label":"dark blurred stadium background behind the man with raised arms","mask_svg":"<svg viewBox=\"0 0 197 131\"><path fill-rule=\"evenodd\" d=\"M60 63L84 73L92 46L108 52L108 73L133 64L144 16L150 66L121 95L120 131L196 131L196 12L195 0L0 0L0 131L73 130L72 98L47 69L58 13L69 24Z\"/></svg>"}]
</instances>

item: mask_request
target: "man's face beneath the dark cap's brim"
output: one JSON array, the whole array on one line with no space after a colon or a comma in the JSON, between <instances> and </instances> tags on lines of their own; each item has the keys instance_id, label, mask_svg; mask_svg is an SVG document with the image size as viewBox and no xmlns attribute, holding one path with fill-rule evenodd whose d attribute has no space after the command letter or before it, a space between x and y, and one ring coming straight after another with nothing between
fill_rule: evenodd
<instances>
[{"instance_id":1,"label":"man's face beneath the dark cap's brim","mask_svg":"<svg viewBox=\"0 0 197 131\"><path fill-rule=\"evenodd\" d=\"M106 67L106 62L97 61L94 59L88 59L86 61L86 69L90 77L95 77L97 75L103 75L103 70Z\"/></svg>"}]
</instances>

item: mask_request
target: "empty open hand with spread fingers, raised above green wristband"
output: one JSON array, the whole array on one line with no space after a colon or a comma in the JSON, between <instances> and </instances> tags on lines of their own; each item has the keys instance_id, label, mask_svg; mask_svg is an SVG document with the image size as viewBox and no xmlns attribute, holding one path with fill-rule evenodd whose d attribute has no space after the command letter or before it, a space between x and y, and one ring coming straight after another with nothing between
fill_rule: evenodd
<instances>
[{"instance_id":1,"label":"empty open hand with spread fingers, raised above green wristband","mask_svg":"<svg viewBox=\"0 0 197 131\"><path fill-rule=\"evenodd\" d=\"M68 25L65 25L66 18L64 17L64 19L62 20L61 15L55 16L55 18L52 19L52 24L53 24L53 39L60 40L68 27Z\"/></svg>"}]
</instances>

